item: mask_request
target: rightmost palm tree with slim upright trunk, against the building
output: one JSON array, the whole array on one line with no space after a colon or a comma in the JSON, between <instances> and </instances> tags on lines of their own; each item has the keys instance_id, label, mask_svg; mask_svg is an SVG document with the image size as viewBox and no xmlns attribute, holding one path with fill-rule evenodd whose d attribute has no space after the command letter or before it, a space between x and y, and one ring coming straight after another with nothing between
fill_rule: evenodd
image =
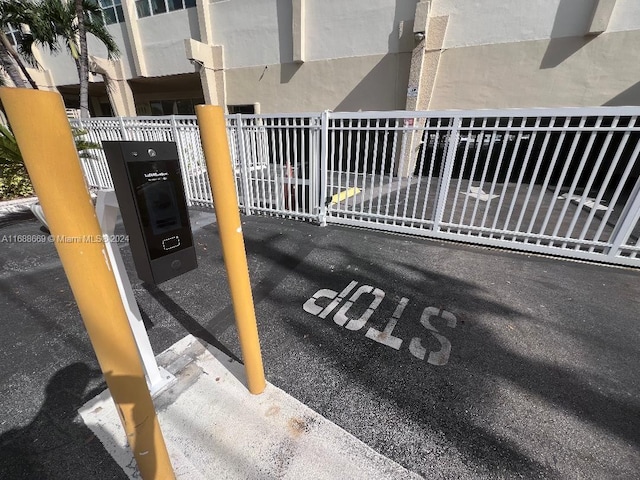
<instances>
[{"instance_id":1,"label":"rightmost palm tree with slim upright trunk, against the building","mask_svg":"<svg viewBox=\"0 0 640 480\"><path fill-rule=\"evenodd\" d=\"M88 117L87 33L104 44L109 59L119 55L118 46L103 23L102 10L94 0L39 0L35 8L37 18L29 23L31 32L24 36L20 52L33 60L32 45L41 45L52 53L58 53L62 44L76 64L80 83L80 113Z\"/></svg>"}]
</instances>

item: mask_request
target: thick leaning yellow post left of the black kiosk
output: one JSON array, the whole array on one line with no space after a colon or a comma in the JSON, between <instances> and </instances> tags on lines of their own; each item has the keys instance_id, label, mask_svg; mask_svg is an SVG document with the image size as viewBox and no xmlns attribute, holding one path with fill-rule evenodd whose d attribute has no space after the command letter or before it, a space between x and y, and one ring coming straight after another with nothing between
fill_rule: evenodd
<instances>
[{"instance_id":1,"label":"thick leaning yellow post left of the black kiosk","mask_svg":"<svg viewBox=\"0 0 640 480\"><path fill-rule=\"evenodd\" d=\"M58 255L142 478L175 478L131 327L101 241L62 98L0 88Z\"/></svg>"}]
</instances>

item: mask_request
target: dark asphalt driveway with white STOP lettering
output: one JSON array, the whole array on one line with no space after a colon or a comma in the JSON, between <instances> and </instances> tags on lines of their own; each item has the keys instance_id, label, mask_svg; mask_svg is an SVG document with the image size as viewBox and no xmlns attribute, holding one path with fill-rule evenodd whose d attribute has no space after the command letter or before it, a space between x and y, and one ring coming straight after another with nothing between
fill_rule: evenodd
<instances>
[{"instance_id":1,"label":"dark asphalt driveway with white STOP lettering","mask_svg":"<svg viewBox=\"0 0 640 480\"><path fill-rule=\"evenodd\" d=\"M239 357L214 216L160 286L156 353ZM427 478L640 477L640 272L243 217L267 379ZM118 232L118 231L117 231ZM75 411L103 388L52 244L0 220L0 477L123 478Z\"/></svg>"}]
</instances>

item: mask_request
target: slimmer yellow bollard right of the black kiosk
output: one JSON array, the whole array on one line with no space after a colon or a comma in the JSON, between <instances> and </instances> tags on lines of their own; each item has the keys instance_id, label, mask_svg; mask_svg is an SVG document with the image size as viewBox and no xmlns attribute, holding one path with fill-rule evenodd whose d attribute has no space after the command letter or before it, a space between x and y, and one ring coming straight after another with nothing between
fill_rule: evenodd
<instances>
[{"instance_id":1,"label":"slimmer yellow bollard right of the black kiosk","mask_svg":"<svg viewBox=\"0 0 640 480\"><path fill-rule=\"evenodd\" d=\"M265 388L264 368L238 211L238 198L233 182L224 111L222 107L198 105L196 115L213 192L213 204L222 241L222 255L229 277L247 384L249 391L257 395Z\"/></svg>"}]
</instances>

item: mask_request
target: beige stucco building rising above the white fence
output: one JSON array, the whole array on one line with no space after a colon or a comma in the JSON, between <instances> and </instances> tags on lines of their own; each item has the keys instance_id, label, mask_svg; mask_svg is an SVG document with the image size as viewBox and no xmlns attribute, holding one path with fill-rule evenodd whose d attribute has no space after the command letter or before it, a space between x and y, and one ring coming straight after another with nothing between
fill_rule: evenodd
<instances>
[{"instance_id":1,"label":"beige stucco building rising above the white fence","mask_svg":"<svg viewBox=\"0 0 640 480\"><path fill-rule=\"evenodd\" d=\"M637 0L101 0L94 115L640 104ZM77 102L65 54L38 83Z\"/></svg>"}]
</instances>

